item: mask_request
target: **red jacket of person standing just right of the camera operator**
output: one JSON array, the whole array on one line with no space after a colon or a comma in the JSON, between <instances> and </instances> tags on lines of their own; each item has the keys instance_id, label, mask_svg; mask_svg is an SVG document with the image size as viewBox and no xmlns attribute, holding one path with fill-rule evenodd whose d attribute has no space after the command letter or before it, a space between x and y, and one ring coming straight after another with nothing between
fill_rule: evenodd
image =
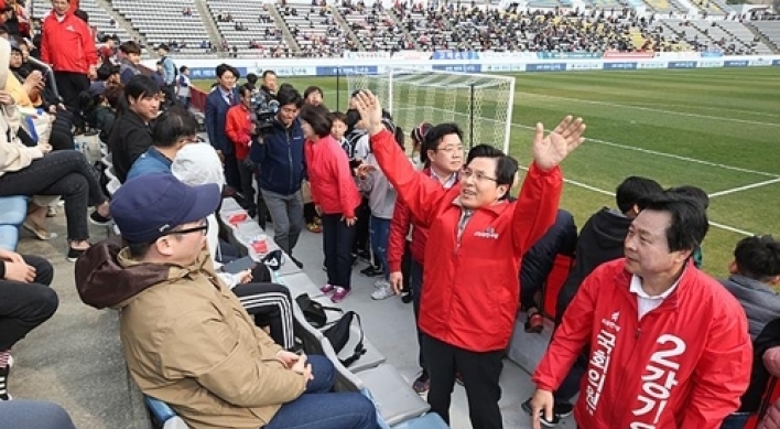
<instances>
[{"instance_id":1,"label":"red jacket of person standing just right of the camera operator","mask_svg":"<svg viewBox=\"0 0 780 429\"><path fill-rule=\"evenodd\" d=\"M344 149L327 136L316 143L306 140L304 153L312 202L322 207L324 214L355 217L355 208L360 205L360 193Z\"/></svg>"}]
</instances>

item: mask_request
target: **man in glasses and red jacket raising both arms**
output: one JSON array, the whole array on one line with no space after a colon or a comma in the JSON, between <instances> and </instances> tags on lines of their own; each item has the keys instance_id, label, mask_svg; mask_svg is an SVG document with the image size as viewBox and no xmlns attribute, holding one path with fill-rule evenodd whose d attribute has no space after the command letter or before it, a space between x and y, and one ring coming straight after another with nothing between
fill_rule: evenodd
<instances>
[{"instance_id":1,"label":"man in glasses and red jacket raising both arms","mask_svg":"<svg viewBox=\"0 0 780 429\"><path fill-rule=\"evenodd\" d=\"M519 302L520 258L553 224L563 179L557 167L583 141L582 119L565 118L548 137L537 125L531 164L517 202L506 199L517 161L485 148L442 189L415 171L381 125L381 106L369 92L356 97L369 122L380 168L426 224L419 325L431 373L431 410L449 420L451 393L459 371L474 429L503 427L498 401L501 357L509 344Z\"/></svg>"}]
</instances>

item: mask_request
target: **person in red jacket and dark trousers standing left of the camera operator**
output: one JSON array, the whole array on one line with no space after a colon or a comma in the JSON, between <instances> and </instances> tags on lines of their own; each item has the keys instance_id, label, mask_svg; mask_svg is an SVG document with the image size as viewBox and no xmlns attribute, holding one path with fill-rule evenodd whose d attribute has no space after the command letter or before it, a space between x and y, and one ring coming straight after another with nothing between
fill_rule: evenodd
<instances>
[{"instance_id":1,"label":"person in red jacket and dark trousers standing left of the camera operator","mask_svg":"<svg viewBox=\"0 0 780 429\"><path fill-rule=\"evenodd\" d=\"M252 90L246 85L238 88L239 103L228 109L225 117L225 135L236 149L236 161L238 161L238 175L241 178L241 193L243 194L243 204L249 217L254 217L257 214L257 205L254 204L254 187L252 180L254 179L254 169L247 163L249 155L249 146L252 143L252 135L254 133L254 122L252 122ZM264 215L264 214L263 214Z\"/></svg>"}]
</instances>

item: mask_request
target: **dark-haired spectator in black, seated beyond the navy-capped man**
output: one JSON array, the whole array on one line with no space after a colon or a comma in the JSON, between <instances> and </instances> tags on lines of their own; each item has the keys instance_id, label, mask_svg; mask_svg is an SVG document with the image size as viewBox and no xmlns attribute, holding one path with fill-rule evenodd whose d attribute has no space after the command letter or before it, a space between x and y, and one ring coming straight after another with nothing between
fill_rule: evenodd
<instances>
[{"instance_id":1,"label":"dark-haired spectator in black, seated beyond the navy-capped man","mask_svg":"<svg viewBox=\"0 0 780 429\"><path fill-rule=\"evenodd\" d=\"M152 146L151 122L159 108L160 87L151 78L134 76L124 85L124 96L108 137L113 171L120 182L127 180L136 159Z\"/></svg>"}]
</instances>

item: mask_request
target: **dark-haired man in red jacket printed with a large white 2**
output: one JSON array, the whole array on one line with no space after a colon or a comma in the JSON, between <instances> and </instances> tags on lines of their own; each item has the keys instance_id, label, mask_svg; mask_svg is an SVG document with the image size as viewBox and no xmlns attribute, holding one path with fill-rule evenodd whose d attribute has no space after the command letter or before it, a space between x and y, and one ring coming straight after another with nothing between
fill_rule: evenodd
<instances>
[{"instance_id":1,"label":"dark-haired man in red jacket printed with a large white 2","mask_svg":"<svg viewBox=\"0 0 780 429\"><path fill-rule=\"evenodd\" d=\"M638 202L625 258L579 287L537 366L533 428L553 418L553 392L588 346L575 405L581 429L717 429L739 407L752 358L745 311L693 266L707 215L672 192Z\"/></svg>"}]
</instances>

